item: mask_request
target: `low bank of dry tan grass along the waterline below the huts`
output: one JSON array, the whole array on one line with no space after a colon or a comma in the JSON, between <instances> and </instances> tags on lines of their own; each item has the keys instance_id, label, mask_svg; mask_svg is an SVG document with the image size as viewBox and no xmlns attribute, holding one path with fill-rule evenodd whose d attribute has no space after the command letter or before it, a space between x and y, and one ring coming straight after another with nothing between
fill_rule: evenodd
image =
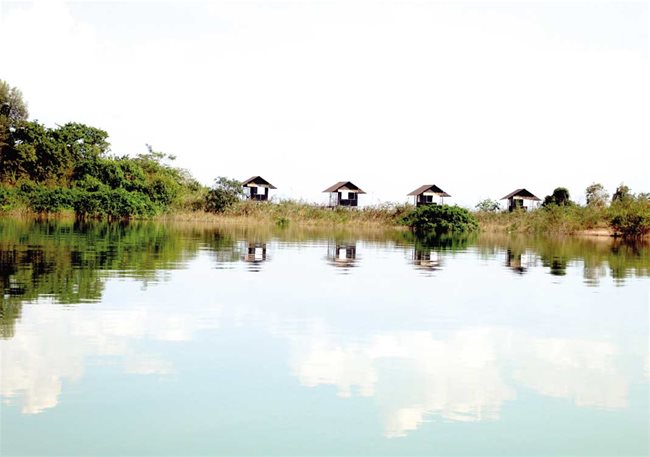
<instances>
[{"instance_id":1,"label":"low bank of dry tan grass along the waterline below the huts","mask_svg":"<svg viewBox=\"0 0 650 457\"><path fill-rule=\"evenodd\" d=\"M168 211L156 216L133 217L133 220L154 220L166 223L192 222L218 225L260 225L314 228L352 228L407 230L403 223L413 205L386 203L362 208L328 208L306 202L239 201L221 213L198 211ZM590 208L578 205L540 208L535 211L483 212L474 211L479 230L484 233L534 234L551 236L622 236L622 230L648 239L649 205L637 204L625 208ZM74 219L74 211L63 209L55 213L36 213L28 208L0 211L0 217ZM615 225L617 222L618 225Z\"/></svg>"}]
</instances>

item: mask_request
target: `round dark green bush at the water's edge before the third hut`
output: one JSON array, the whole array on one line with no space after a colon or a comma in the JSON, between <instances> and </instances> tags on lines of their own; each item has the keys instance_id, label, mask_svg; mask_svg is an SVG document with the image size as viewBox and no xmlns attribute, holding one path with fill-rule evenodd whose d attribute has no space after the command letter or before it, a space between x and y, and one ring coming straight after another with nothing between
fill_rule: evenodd
<instances>
[{"instance_id":1,"label":"round dark green bush at the water's edge before the third hut","mask_svg":"<svg viewBox=\"0 0 650 457\"><path fill-rule=\"evenodd\" d=\"M406 215L402 222L418 235L465 233L478 230L478 221L459 206L425 205Z\"/></svg>"}]
</instances>

